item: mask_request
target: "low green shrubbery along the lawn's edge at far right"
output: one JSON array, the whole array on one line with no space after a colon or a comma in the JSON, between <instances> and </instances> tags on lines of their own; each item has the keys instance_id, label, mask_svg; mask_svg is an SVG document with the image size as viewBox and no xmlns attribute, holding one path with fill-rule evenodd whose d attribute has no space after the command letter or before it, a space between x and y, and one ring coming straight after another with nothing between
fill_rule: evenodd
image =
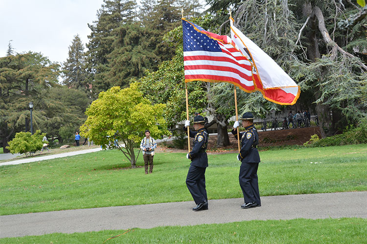
<instances>
[{"instance_id":1,"label":"low green shrubbery along the lawn's edge at far right","mask_svg":"<svg viewBox=\"0 0 367 244\"><path fill-rule=\"evenodd\" d=\"M305 146L322 147L367 143L367 120L363 120L357 128L345 131L343 134L340 135L326 137L320 140L312 137L310 141L304 143Z\"/></svg>"}]
</instances>

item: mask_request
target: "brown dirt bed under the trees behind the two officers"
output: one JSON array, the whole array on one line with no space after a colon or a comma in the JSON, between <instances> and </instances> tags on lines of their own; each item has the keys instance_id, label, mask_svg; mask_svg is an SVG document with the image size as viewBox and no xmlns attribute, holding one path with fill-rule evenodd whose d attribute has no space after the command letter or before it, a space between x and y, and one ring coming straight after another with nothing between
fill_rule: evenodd
<instances>
[{"instance_id":1,"label":"brown dirt bed under the trees behind the two officers","mask_svg":"<svg viewBox=\"0 0 367 244\"><path fill-rule=\"evenodd\" d=\"M310 140L311 136L317 134L321 138L320 128L318 126L286 129L286 130L273 130L273 131L260 131L259 132L259 145L265 146L282 146L282 145L302 145L304 142ZM191 145L192 140L190 139ZM208 152L210 153L223 153L236 151L237 140L229 134L230 145L218 147L217 136L209 136ZM172 142L167 142L172 145ZM158 145L157 152L187 152L187 146L184 149L167 148L162 147L162 144Z\"/></svg>"}]
</instances>

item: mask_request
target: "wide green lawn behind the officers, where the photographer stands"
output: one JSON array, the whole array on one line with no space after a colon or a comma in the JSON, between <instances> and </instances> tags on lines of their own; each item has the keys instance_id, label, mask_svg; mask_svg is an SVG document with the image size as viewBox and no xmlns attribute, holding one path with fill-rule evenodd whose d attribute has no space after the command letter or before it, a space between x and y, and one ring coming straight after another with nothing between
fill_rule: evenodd
<instances>
[{"instance_id":1,"label":"wide green lawn behind the officers, where the photographer stands","mask_svg":"<svg viewBox=\"0 0 367 244\"><path fill-rule=\"evenodd\" d=\"M0 214L192 201L185 155L157 153L149 175L144 168L122 169L130 163L117 150L1 166ZM366 144L264 151L260 157L261 196L367 190ZM208 156L209 199L242 198L235 158Z\"/></svg>"}]
</instances>

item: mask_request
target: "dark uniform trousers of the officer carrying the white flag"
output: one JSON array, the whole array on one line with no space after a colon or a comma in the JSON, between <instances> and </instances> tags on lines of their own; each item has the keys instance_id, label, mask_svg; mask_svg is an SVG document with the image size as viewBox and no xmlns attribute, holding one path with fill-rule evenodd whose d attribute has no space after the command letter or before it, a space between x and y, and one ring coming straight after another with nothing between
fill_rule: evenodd
<instances>
[{"instance_id":1,"label":"dark uniform trousers of the officer carrying the white flag","mask_svg":"<svg viewBox=\"0 0 367 244\"><path fill-rule=\"evenodd\" d=\"M258 163L242 163L238 176L245 203L261 204L257 180Z\"/></svg>"}]
</instances>

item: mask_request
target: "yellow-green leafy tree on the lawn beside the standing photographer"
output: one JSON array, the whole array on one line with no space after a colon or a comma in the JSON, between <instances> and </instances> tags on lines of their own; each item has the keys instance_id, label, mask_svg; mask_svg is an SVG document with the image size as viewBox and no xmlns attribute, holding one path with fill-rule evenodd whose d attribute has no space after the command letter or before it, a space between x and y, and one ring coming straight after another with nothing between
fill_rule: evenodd
<instances>
[{"instance_id":1,"label":"yellow-green leafy tree on the lawn beside the standing photographer","mask_svg":"<svg viewBox=\"0 0 367 244\"><path fill-rule=\"evenodd\" d=\"M112 87L101 92L98 99L87 109L87 121L81 126L81 135L103 148L116 148L115 139L124 146L117 148L135 167L138 155L134 146L149 129L152 137L167 135L167 124L163 117L164 104L154 104L144 98L137 84L120 89ZM139 151L140 152L140 151Z\"/></svg>"}]
</instances>

